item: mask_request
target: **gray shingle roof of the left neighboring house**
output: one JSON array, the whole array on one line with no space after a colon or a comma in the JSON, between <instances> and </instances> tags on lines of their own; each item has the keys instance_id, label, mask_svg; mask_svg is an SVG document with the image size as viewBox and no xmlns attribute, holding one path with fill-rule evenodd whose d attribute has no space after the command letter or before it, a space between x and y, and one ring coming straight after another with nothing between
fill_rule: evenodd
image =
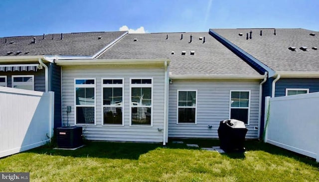
<instances>
[{"instance_id":1,"label":"gray shingle roof of the left neighboring house","mask_svg":"<svg viewBox=\"0 0 319 182\"><path fill-rule=\"evenodd\" d=\"M35 56L35 55L76 55L93 56L106 45L120 37L124 31L117 32L84 32L61 34L19 36L0 38L0 56ZM54 39L52 40L52 35ZM98 39L101 36L102 39ZM33 37L36 43L31 43ZM7 43L5 43L5 39ZM13 43L10 43L13 41ZM22 53L16 54L21 51ZM7 52L13 52L7 55ZM26 53L28 52L28 53Z\"/></svg>"}]
</instances>

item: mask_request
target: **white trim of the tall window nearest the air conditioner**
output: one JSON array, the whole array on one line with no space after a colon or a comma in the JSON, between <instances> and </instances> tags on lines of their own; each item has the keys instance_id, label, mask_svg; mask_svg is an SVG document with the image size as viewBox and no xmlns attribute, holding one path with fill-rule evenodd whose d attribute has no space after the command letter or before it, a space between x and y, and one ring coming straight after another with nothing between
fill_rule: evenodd
<instances>
[{"instance_id":1,"label":"white trim of the tall window nearest the air conditioner","mask_svg":"<svg viewBox=\"0 0 319 182\"><path fill-rule=\"evenodd\" d=\"M94 80L93 84L75 84L76 80ZM96 79L95 78L75 78L74 79L74 125L75 126L96 126ZM76 123L76 88L94 88L94 124L77 124ZM81 107L92 107L92 105L78 105Z\"/></svg>"}]
</instances>

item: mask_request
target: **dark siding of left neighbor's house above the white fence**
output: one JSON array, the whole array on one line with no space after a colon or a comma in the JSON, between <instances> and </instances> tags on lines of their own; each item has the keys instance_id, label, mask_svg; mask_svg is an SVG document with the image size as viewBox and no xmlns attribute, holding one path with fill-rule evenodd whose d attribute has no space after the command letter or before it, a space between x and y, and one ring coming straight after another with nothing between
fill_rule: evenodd
<instances>
[{"instance_id":1,"label":"dark siding of left neighbor's house above the white fence","mask_svg":"<svg viewBox=\"0 0 319 182\"><path fill-rule=\"evenodd\" d=\"M34 71L14 71L14 72L0 72L0 76L6 76L7 87L12 87L12 75L34 75L34 91L45 91L45 74L44 68Z\"/></svg>"}]
</instances>

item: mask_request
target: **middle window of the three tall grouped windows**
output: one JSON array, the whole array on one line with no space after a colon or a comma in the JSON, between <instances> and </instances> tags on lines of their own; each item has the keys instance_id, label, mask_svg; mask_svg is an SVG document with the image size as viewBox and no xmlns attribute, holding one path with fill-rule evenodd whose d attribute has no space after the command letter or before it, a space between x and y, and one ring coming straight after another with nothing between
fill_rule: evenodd
<instances>
[{"instance_id":1,"label":"middle window of the three tall grouped windows","mask_svg":"<svg viewBox=\"0 0 319 182\"><path fill-rule=\"evenodd\" d=\"M123 125L123 79L102 79L103 125Z\"/></svg>"}]
</instances>

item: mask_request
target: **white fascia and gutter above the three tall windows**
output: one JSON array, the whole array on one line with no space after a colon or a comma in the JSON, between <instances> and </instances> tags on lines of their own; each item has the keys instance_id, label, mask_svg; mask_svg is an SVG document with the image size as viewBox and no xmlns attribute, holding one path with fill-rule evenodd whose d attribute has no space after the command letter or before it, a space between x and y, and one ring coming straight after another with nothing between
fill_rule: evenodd
<instances>
[{"instance_id":1,"label":"white fascia and gutter above the three tall windows","mask_svg":"<svg viewBox=\"0 0 319 182\"><path fill-rule=\"evenodd\" d=\"M170 62L169 59L79 59L55 60L59 66L96 66L96 65L136 65L136 64L162 64Z\"/></svg>"}]
</instances>

